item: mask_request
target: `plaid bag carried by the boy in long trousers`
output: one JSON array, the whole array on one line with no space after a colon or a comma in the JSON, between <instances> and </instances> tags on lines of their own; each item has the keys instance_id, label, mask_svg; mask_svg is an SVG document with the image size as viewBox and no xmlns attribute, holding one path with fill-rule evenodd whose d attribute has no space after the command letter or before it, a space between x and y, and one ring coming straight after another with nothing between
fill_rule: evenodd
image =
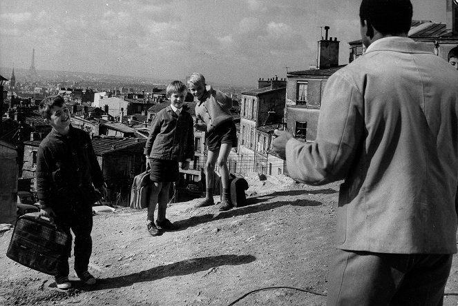
<instances>
[{"instance_id":1,"label":"plaid bag carried by the boy in long trousers","mask_svg":"<svg viewBox=\"0 0 458 306\"><path fill-rule=\"evenodd\" d=\"M57 260L68 258L72 238L54 223L39 216L17 219L6 256L31 269L55 276Z\"/></svg>"}]
</instances>

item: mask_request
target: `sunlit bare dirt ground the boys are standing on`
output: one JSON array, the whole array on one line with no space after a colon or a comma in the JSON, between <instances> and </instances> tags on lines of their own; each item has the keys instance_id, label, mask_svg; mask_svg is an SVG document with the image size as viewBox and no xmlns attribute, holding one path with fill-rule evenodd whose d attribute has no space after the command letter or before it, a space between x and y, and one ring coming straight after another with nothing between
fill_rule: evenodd
<instances>
[{"instance_id":1,"label":"sunlit bare dirt ground the boys are standing on","mask_svg":"<svg viewBox=\"0 0 458 306\"><path fill-rule=\"evenodd\" d=\"M325 305L338 183L312 187L286 176L247 180L248 203L228 212L178 197L167 210L180 230L151 237L145 210L94 217L88 287L73 289L6 257L12 230L0 233L3 305ZM219 196L215 196L219 199ZM70 258L73 265L73 258ZM297 289L294 289L297 288ZM309 292L301 291L306 290ZM454 257L444 305L458 305Z\"/></svg>"}]
</instances>

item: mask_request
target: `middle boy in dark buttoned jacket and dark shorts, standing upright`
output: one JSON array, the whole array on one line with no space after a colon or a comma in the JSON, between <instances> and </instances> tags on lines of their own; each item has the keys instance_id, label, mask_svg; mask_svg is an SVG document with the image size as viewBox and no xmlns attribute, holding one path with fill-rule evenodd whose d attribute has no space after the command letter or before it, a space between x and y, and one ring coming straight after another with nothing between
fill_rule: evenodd
<instances>
[{"instance_id":1,"label":"middle boy in dark buttoned jacket and dark shorts, standing upright","mask_svg":"<svg viewBox=\"0 0 458 306\"><path fill-rule=\"evenodd\" d=\"M187 87L180 81L167 86L166 95L171 103L154 116L144 149L146 168L151 167L151 195L146 217L146 228L151 236L158 236L161 230L177 229L165 214L170 183L178 181L180 176L178 163L183 170L188 170L194 157L193 119L182 107L186 94ZM158 218L154 220L158 200Z\"/></svg>"}]
</instances>

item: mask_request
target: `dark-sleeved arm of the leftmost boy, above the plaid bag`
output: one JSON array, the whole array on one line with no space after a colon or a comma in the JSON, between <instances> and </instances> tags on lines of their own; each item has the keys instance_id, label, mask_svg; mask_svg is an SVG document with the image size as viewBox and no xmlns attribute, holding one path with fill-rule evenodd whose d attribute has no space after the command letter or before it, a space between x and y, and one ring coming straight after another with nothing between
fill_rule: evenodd
<instances>
[{"instance_id":1,"label":"dark-sleeved arm of the leftmost boy, above the plaid bag","mask_svg":"<svg viewBox=\"0 0 458 306\"><path fill-rule=\"evenodd\" d=\"M43 147L38 148L37 152L37 194L40 208L51 207L50 191L53 185L53 176L48 166L46 151Z\"/></svg>"}]
</instances>

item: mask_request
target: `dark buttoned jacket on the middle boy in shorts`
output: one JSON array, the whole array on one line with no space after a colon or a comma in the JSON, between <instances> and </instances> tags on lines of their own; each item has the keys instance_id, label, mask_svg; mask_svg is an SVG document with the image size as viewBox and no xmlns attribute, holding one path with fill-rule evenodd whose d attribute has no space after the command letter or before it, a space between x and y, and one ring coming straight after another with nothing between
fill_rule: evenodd
<instances>
[{"instance_id":1,"label":"dark buttoned jacket on the middle boy in shorts","mask_svg":"<svg viewBox=\"0 0 458 306\"><path fill-rule=\"evenodd\" d=\"M184 162L194 158L193 118L182 110L178 116L167 106L155 114L144 148L151 159Z\"/></svg>"}]
</instances>

